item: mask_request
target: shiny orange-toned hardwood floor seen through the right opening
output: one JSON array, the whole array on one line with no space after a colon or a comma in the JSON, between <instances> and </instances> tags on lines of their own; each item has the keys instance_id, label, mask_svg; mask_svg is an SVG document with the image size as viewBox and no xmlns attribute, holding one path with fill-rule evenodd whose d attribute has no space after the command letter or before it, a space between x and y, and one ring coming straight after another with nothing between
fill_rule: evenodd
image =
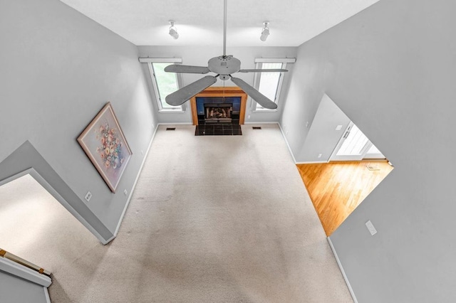
<instances>
[{"instance_id":1,"label":"shiny orange-toned hardwood floor seen through the right opening","mask_svg":"<svg viewBox=\"0 0 456 303\"><path fill-rule=\"evenodd\" d=\"M369 170L369 165L374 169ZM328 236L393 170L386 160L296 166Z\"/></svg>"}]
</instances>

